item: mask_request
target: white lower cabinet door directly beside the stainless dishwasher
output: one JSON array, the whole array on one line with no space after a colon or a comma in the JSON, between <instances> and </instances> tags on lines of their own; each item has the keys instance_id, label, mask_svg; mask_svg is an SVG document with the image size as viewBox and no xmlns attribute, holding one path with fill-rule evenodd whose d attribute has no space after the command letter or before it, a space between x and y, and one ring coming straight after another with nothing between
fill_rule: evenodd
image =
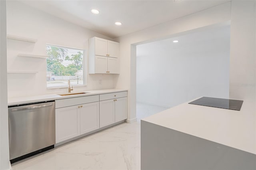
<instances>
[{"instance_id":1,"label":"white lower cabinet door directly beside the stainless dishwasher","mask_svg":"<svg viewBox=\"0 0 256 170\"><path fill-rule=\"evenodd\" d=\"M80 135L78 106L55 109L56 143Z\"/></svg>"}]
</instances>

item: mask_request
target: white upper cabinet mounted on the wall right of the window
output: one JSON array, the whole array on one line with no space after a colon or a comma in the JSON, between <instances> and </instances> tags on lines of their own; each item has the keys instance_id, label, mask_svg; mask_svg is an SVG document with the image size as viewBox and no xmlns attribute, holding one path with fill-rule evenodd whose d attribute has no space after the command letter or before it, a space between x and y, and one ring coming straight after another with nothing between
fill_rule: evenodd
<instances>
[{"instance_id":1,"label":"white upper cabinet mounted on the wall right of the window","mask_svg":"<svg viewBox=\"0 0 256 170\"><path fill-rule=\"evenodd\" d=\"M119 74L119 43L89 39L89 74Z\"/></svg>"}]
</instances>

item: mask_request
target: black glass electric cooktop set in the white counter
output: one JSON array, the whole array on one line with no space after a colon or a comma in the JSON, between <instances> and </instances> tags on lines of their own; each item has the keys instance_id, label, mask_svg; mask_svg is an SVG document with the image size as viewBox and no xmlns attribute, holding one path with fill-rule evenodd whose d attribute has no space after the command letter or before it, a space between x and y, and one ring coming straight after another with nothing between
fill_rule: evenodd
<instances>
[{"instance_id":1,"label":"black glass electric cooktop set in the white counter","mask_svg":"<svg viewBox=\"0 0 256 170\"><path fill-rule=\"evenodd\" d=\"M213 98L213 97L202 97L188 104L218 107L222 109L231 109L231 110L240 111L243 101L231 100L231 99L220 99L220 98Z\"/></svg>"}]
</instances>

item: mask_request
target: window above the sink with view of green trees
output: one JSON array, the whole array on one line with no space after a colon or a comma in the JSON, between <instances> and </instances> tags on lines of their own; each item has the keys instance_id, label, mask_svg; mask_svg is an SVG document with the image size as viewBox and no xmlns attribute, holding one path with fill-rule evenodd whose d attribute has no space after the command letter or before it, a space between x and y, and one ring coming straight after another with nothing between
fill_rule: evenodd
<instances>
[{"instance_id":1,"label":"window above the sink with view of green trees","mask_svg":"<svg viewBox=\"0 0 256 170\"><path fill-rule=\"evenodd\" d=\"M84 85L84 51L68 47L46 45L47 87L61 88L70 85Z\"/></svg>"}]
</instances>

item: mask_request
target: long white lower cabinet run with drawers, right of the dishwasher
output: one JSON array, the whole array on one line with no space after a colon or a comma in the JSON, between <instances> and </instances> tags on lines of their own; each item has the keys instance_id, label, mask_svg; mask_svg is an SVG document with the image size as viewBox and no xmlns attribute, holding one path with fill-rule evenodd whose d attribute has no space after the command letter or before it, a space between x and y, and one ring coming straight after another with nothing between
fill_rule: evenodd
<instances>
[{"instance_id":1,"label":"long white lower cabinet run with drawers, right of the dishwasher","mask_svg":"<svg viewBox=\"0 0 256 170\"><path fill-rule=\"evenodd\" d=\"M125 119L127 91L56 100L56 144Z\"/></svg>"}]
</instances>

